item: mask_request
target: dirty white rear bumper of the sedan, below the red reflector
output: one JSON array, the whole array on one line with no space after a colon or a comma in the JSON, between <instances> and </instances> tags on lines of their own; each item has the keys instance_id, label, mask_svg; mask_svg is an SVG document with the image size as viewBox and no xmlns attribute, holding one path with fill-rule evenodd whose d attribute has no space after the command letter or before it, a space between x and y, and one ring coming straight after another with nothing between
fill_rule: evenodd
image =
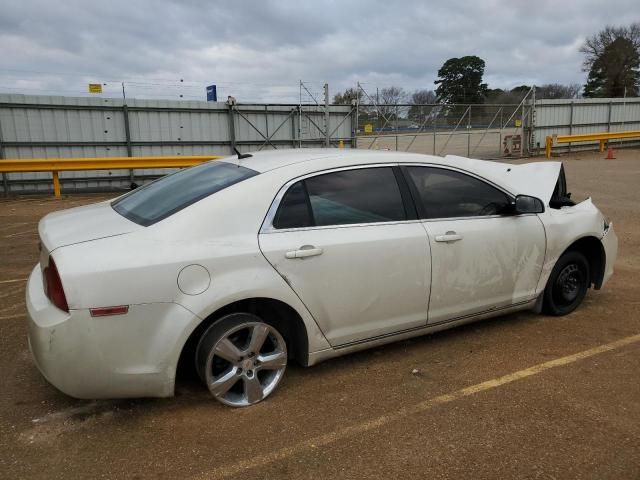
<instances>
[{"instance_id":1,"label":"dirty white rear bumper of the sedan, below the red reflector","mask_svg":"<svg viewBox=\"0 0 640 480\"><path fill-rule=\"evenodd\" d=\"M199 320L175 303L131 305L129 313L91 317L56 308L36 267L26 303L29 348L44 377L76 398L173 395L182 345Z\"/></svg>"}]
</instances>

